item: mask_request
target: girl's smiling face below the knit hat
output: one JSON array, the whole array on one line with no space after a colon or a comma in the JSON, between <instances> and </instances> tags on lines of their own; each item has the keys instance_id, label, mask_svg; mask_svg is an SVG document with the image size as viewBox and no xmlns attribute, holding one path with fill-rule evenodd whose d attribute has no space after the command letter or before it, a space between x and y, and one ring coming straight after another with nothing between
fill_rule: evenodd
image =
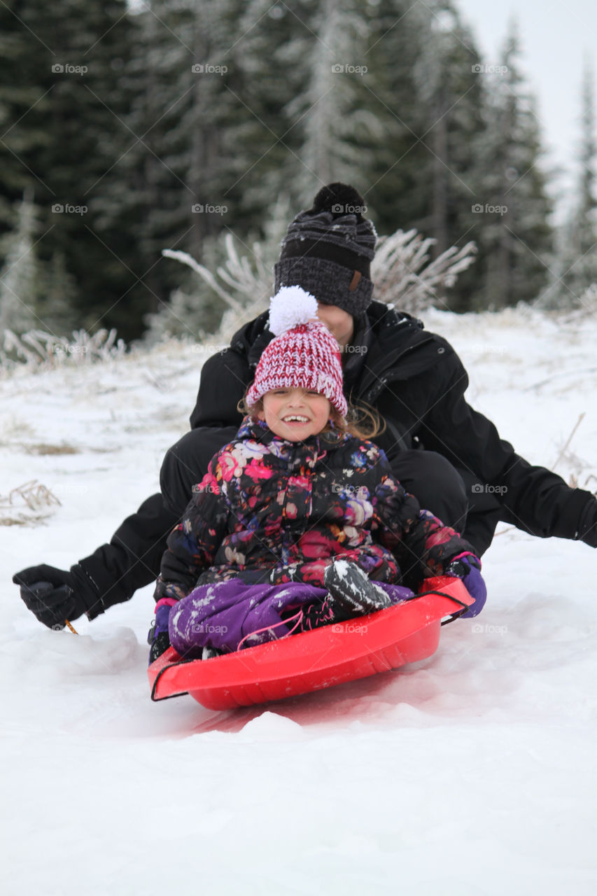
<instances>
[{"instance_id":1,"label":"girl's smiling face below the knit hat","mask_svg":"<svg viewBox=\"0 0 597 896\"><path fill-rule=\"evenodd\" d=\"M273 389L265 392L264 409L257 413L274 435L301 442L320 433L330 418L332 405L319 392L304 389Z\"/></svg>"}]
</instances>

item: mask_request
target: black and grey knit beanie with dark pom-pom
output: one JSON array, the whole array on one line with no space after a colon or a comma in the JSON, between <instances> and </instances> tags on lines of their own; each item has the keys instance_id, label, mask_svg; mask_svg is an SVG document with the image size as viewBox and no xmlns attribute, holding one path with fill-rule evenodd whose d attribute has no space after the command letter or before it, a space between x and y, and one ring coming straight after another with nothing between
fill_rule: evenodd
<instances>
[{"instance_id":1,"label":"black and grey knit beanie with dark pom-pom","mask_svg":"<svg viewBox=\"0 0 597 896\"><path fill-rule=\"evenodd\" d=\"M275 291L300 286L324 305L336 305L353 317L364 314L373 293L369 269L377 234L363 211L365 201L353 186L322 187L312 208L299 212L281 242L273 268Z\"/></svg>"}]
</instances>

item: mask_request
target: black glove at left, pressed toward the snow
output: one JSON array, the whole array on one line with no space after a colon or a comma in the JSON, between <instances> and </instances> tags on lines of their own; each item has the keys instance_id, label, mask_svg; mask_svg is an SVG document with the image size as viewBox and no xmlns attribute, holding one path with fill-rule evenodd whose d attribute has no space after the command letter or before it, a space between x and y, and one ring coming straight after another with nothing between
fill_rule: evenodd
<instances>
[{"instance_id":1,"label":"black glove at left, pressed toward the snow","mask_svg":"<svg viewBox=\"0 0 597 896\"><path fill-rule=\"evenodd\" d=\"M99 592L82 566L74 564L70 572L55 566L29 566L13 575L21 586L21 597L39 622L48 628L65 627L65 619L77 619L86 613L90 619L104 612Z\"/></svg>"}]
</instances>

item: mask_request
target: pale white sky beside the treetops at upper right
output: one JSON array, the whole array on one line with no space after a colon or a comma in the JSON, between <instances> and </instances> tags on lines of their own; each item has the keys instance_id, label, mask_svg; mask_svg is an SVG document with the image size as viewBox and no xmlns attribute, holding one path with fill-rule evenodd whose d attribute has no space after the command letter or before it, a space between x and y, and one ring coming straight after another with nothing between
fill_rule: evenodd
<instances>
[{"instance_id":1,"label":"pale white sky beside the treetops at upper right","mask_svg":"<svg viewBox=\"0 0 597 896\"><path fill-rule=\"evenodd\" d=\"M548 165L566 173L552 180L551 192L566 202L577 177L580 90L584 59L593 64L597 95L597 3L595 0L455 0L486 65L497 65L510 15L518 22L523 71L538 101Z\"/></svg>"}]
</instances>

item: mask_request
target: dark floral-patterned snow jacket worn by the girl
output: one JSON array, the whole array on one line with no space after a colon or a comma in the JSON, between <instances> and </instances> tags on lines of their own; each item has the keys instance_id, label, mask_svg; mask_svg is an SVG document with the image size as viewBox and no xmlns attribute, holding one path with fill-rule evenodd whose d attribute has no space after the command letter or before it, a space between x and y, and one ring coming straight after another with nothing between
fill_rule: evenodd
<instances>
[{"instance_id":1,"label":"dark floral-patterned snow jacket worn by the girl","mask_svg":"<svg viewBox=\"0 0 597 896\"><path fill-rule=\"evenodd\" d=\"M337 556L371 579L416 589L472 551L420 510L375 444L337 435L289 442L246 417L170 533L154 598L181 599L197 584L237 577L322 587Z\"/></svg>"}]
</instances>

